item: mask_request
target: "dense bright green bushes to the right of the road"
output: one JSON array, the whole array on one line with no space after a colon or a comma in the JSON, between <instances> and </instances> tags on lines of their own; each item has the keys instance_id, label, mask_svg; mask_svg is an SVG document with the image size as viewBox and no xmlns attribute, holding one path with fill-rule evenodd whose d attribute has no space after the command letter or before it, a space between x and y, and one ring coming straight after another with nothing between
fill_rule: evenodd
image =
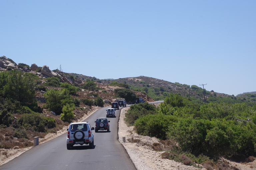
<instances>
[{"instance_id":1,"label":"dense bright green bushes to the right of the road","mask_svg":"<svg viewBox=\"0 0 256 170\"><path fill-rule=\"evenodd\" d=\"M217 164L221 156L246 160L256 156L256 105L247 102L214 101L194 103L179 94L170 94L159 107L135 104L126 113L126 122L141 135L157 137L169 147L155 143L162 157ZM255 159L253 159L255 160ZM183 162L183 161L180 161ZM184 163L184 162L183 162Z\"/></svg>"}]
</instances>

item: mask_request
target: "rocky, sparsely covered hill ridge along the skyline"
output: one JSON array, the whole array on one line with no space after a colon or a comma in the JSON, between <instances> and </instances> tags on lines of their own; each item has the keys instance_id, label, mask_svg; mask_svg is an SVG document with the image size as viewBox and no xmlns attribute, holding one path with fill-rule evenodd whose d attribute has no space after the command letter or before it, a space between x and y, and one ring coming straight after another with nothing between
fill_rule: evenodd
<instances>
[{"instance_id":1,"label":"rocky, sparsely covered hill ridge along the skyline","mask_svg":"<svg viewBox=\"0 0 256 170\"><path fill-rule=\"evenodd\" d=\"M152 77L146 77L146 76L139 76L139 77L127 77L127 78L119 78L119 79L104 79L100 80L96 77L90 77L85 76L82 74L76 74L76 73L64 73L62 71L56 70L50 70L50 68L46 65L40 68L40 71L38 71L38 66L36 64L32 64L30 67L19 67L18 64L16 64L12 59L7 58L6 56L0 57L0 71L6 71L10 69L17 69L24 72L31 72L40 77L40 79L45 79L47 77L59 77L61 79L61 82L67 82L69 84L77 83L77 84L84 84L85 80L94 80L98 83L99 86L105 86L106 84L109 84L111 82L118 82L118 83L124 83L129 84L132 86L131 89L137 90L138 92L144 91L142 88L154 88L158 89L160 92L166 92L166 93L178 93L184 97L192 97L199 98L200 100L203 100L204 97L207 99L210 95L213 96L221 96L221 97L232 97L231 95L227 95L224 93L217 93L212 91L205 91L203 92L203 89L198 86L191 86L186 84L180 84L178 82L172 83L165 80L160 80ZM138 90L137 88L140 87L141 89ZM141 93L138 93L141 95ZM158 93L158 95L161 97L161 95L164 95L163 93ZM140 96L143 97L143 96ZM244 97L244 96L240 96Z\"/></svg>"}]
</instances>

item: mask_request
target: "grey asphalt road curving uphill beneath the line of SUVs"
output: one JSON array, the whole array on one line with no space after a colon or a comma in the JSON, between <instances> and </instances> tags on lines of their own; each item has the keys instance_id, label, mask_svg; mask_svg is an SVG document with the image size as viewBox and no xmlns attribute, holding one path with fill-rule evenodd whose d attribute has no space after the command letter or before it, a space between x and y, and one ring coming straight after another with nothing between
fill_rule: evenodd
<instances>
[{"instance_id":1,"label":"grey asphalt road curving uphill beneath the line of SUVs","mask_svg":"<svg viewBox=\"0 0 256 170\"><path fill-rule=\"evenodd\" d=\"M109 107L99 109L85 122L95 127L94 121L96 118L106 117L107 108ZM116 110L116 118L108 118L110 132L99 130L96 133L93 130L93 149L89 145L74 145L71 150L67 150L65 133L29 149L0 166L0 170L135 170L129 155L118 141L119 114L120 110Z\"/></svg>"}]
</instances>

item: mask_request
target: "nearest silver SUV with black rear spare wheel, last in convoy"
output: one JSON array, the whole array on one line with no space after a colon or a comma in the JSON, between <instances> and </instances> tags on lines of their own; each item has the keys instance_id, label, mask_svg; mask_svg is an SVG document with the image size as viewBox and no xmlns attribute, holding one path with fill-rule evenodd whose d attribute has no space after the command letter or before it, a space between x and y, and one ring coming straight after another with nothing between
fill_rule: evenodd
<instances>
[{"instance_id":1,"label":"nearest silver SUV with black rear spare wheel, last in convoy","mask_svg":"<svg viewBox=\"0 0 256 170\"><path fill-rule=\"evenodd\" d=\"M71 149L75 144L89 144L90 148L94 145L94 135L88 122L76 122L69 125L67 136L67 149Z\"/></svg>"}]
</instances>

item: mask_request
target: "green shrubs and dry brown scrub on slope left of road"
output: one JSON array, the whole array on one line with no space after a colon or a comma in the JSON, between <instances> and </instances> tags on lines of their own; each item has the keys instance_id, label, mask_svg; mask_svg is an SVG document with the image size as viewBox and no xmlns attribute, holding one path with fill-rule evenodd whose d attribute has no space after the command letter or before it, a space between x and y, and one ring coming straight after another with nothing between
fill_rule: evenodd
<instances>
[{"instance_id":1,"label":"green shrubs and dry brown scrub on slope left of road","mask_svg":"<svg viewBox=\"0 0 256 170\"><path fill-rule=\"evenodd\" d=\"M23 63L18 65L19 68L25 66L28 67ZM41 68L36 71L41 71ZM3 136L0 148L32 146L33 137L43 138L47 133L56 133L73 119L76 120L76 110L86 113L88 110L82 108L82 104L89 107L104 105L103 99L96 93L94 99L91 96L77 98L81 88L101 90L94 81L88 80L83 87L78 87L75 83L61 83L58 77L44 80L42 83L37 75L15 69L0 72L0 135ZM38 106L36 93L41 90L44 91L46 103ZM50 114L49 117L49 113L45 114L43 109L56 116Z\"/></svg>"}]
</instances>

